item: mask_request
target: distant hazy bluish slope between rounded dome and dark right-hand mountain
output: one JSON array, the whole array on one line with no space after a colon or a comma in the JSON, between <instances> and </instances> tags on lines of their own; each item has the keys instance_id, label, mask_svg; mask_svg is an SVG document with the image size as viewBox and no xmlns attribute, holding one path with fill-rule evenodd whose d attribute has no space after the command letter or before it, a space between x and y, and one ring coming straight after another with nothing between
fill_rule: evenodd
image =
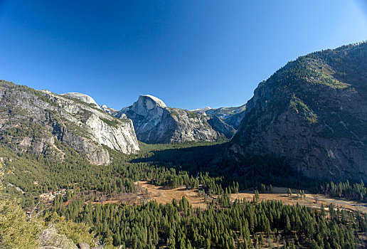
<instances>
[{"instance_id":1,"label":"distant hazy bluish slope between rounded dome and dark right-hand mountain","mask_svg":"<svg viewBox=\"0 0 367 249\"><path fill-rule=\"evenodd\" d=\"M204 109L191 110L191 112L196 112L208 117L218 117L220 120L223 120L223 122L233 127L233 129L238 129L243 119L243 115L245 114L245 110L246 105L241 105L240 107L206 107Z\"/></svg>"}]
</instances>

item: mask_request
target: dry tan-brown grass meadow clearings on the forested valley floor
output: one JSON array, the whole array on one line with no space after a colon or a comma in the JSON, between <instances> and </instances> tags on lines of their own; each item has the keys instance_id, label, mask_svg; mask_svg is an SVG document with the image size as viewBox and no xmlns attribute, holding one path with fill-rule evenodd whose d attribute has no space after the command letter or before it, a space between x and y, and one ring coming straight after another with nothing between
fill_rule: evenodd
<instances>
[{"instance_id":1,"label":"dry tan-brown grass meadow clearings on the forested valley floor","mask_svg":"<svg viewBox=\"0 0 367 249\"><path fill-rule=\"evenodd\" d=\"M144 203L146 201L156 201L158 203L171 203L174 198L180 200L182 196L185 196L191 203L193 208L206 208L207 204L205 198L201 195L198 189L186 189L185 187L179 187L176 189L164 188L163 186L155 186L149 184L149 181L137 181L135 183L137 187L137 193L122 193L112 198L100 198L99 203ZM324 205L327 210L330 203L336 208L346 209L347 211L359 211L361 213L367 213L367 203L351 201L343 198L332 198L323 194L309 194L305 193L304 197L299 197L297 194L292 196L287 195L287 188L273 187L272 192L260 193L259 201L282 201L288 205L307 206L310 208L320 209L321 204ZM298 189L292 189L292 193L297 193ZM248 201L252 201L254 191L243 191L238 194L231 194L230 200L246 198ZM217 198L217 196L213 196Z\"/></svg>"}]
</instances>

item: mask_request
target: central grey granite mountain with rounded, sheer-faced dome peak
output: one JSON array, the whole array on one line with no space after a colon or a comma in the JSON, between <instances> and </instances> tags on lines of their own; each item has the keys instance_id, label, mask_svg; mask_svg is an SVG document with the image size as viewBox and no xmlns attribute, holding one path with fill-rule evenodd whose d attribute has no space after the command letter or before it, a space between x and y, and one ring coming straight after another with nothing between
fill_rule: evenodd
<instances>
[{"instance_id":1,"label":"central grey granite mountain with rounded, sheer-faced dome peak","mask_svg":"<svg viewBox=\"0 0 367 249\"><path fill-rule=\"evenodd\" d=\"M132 106L124 107L117 117L132 120L139 141L148 144L167 144L186 141L216 141L228 134L218 125L213 129L209 117L196 112L170 108L151 95L140 95Z\"/></svg>"}]
</instances>

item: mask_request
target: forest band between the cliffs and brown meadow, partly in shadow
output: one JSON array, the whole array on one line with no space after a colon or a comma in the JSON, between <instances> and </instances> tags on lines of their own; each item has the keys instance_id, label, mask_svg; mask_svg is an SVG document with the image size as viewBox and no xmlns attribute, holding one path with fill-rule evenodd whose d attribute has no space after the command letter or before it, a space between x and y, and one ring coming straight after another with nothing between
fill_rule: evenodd
<instances>
[{"instance_id":1,"label":"forest band between the cliffs and brown meadow, partly in shadow","mask_svg":"<svg viewBox=\"0 0 367 249\"><path fill-rule=\"evenodd\" d=\"M200 185L209 196L223 194L225 189L231 193L261 189L262 184L298 189L318 186L316 181L302 181L302 174L272 159L252 159L252 171L233 175L232 171L224 170L228 166L213 161L223 144L142 144L142 152L130 156L110 150L112 163L96 166L67 144L56 143L66 152L65 161L50 160L32 152L14 153L0 147L4 164L14 173L7 181L18 186L24 194L14 188L7 191L15 196L21 195L25 208L33 208L40 194L60 189L75 189L78 193L101 191L106 195L129 193L134 191L134 182L139 180L171 189L179 186L198 188Z\"/></svg>"}]
</instances>

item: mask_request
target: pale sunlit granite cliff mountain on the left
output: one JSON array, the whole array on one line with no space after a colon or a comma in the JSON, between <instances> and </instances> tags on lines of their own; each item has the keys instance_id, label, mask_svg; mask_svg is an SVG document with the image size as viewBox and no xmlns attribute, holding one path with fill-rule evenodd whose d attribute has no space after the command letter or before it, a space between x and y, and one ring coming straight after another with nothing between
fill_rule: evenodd
<instances>
[{"instance_id":1,"label":"pale sunlit granite cliff mountain on the left","mask_svg":"<svg viewBox=\"0 0 367 249\"><path fill-rule=\"evenodd\" d=\"M111 117L80 93L56 95L1 80L0 117L0 145L15 152L63 160L67 144L92 164L108 164L106 147L125 154L139 150L131 120Z\"/></svg>"}]
</instances>

